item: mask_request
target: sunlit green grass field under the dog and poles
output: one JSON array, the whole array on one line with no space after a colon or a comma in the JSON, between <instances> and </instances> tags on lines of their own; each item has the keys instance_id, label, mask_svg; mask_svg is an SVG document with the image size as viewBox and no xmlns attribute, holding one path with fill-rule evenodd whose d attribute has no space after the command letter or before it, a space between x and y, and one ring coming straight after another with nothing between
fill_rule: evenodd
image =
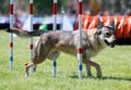
<instances>
[{"instance_id":1,"label":"sunlit green grass field under the dog and poles","mask_svg":"<svg viewBox=\"0 0 131 90\"><path fill-rule=\"evenodd\" d=\"M58 77L51 75L52 65L46 61L37 72L24 76L24 64L29 61L29 39L14 38L14 67L9 69L10 35L0 31L0 90L131 90L131 46L116 46L100 52L93 61L102 66L103 79L78 78L78 61L67 54L58 59ZM36 40L36 39L35 39ZM96 70L92 68L93 75Z\"/></svg>"}]
</instances>

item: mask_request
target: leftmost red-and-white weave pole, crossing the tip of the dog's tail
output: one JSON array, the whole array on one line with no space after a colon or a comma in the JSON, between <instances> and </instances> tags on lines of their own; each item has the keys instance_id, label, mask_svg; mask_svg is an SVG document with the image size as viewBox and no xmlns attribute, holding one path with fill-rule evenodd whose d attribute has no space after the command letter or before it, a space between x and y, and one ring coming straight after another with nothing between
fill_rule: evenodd
<instances>
[{"instance_id":1,"label":"leftmost red-and-white weave pole, crossing the tip of the dog's tail","mask_svg":"<svg viewBox=\"0 0 131 90\"><path fill-rule=\"evenodd\" d=\"M14 27L14 0L10 0L10 28ZM10 35L10 70L13 70L13 34Z\"/></svg>"}]
</instances>

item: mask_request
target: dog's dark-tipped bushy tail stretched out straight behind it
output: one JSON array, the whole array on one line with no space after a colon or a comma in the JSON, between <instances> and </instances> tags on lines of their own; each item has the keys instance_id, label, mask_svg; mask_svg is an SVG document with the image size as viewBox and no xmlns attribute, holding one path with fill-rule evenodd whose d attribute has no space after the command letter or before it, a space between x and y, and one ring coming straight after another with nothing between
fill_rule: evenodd
<instances>
[{"instance_id":1,"label":"dog's dark-tipped bushy tail stretched out straight behind it","mask_svg":"<svg viewBox=\"0 0 131 90\"><path fill-rule=\"evenodd\" d=\"M23 30L20 28L8 28L7 31L13 33L17 35L19 37L23 37L23 38L38 37L41 34L47 33L46 30L27 31L27 30Z\"/></svg>"}]
</instances>

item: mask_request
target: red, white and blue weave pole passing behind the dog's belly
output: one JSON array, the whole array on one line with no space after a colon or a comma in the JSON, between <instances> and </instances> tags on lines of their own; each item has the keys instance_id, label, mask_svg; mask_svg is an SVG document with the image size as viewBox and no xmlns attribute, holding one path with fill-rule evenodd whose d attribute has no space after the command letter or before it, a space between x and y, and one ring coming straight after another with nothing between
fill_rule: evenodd
<instances>
[{"instance_id":1,"label":"red, white and blue weave pole passing behind the dog's belly","mask_svg":"<svg viewBox=\"0 0 131 90\"><path fill-rule=\"evenodd\" d=\"M53 0L53 7L52 7L52 18L53 18L53 31L57 29L57 3L58 0ZM56 60L52 61L52 76L57 77L57 62Z\"/></svg>"}]
</instances>

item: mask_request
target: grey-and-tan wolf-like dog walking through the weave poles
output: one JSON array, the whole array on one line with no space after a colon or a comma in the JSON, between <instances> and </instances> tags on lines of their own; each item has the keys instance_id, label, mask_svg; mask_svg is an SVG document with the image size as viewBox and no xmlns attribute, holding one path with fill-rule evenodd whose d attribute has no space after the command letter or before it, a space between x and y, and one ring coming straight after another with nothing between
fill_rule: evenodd
<instances>
[{"instance_id":1,"label":"grey-and-tan wolf-like dog walking through the weave poles","mask_svg":"<svg viewBox=\"0 0 131 90\"><path fill-rule=\"evenodd\" d=\"M39 36L34 49L34 57L25 64L26 76L28 76L29 67L36 66L46 59L56 61L61 51L75 57L78 56L79 30L26 31L19 28L9 28L7 31L24 38ZM91 61L91 57L97 55L98 52L108 46L111 48L115 47L115 31L114 21L110 22L110 26L105 26L100 20L98 20L97 28L82 30L82 63L86 65L87 76L92 76L91 66L94 66L97 78L102 77L99 64Z\"/></svg>"}]
</instances>

